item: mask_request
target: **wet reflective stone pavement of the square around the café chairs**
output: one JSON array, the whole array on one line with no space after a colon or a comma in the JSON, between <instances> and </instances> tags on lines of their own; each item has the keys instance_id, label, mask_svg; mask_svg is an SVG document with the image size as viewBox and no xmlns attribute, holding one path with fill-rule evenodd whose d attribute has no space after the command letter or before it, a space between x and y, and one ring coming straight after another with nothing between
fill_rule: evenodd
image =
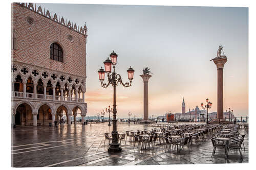
<instances>
[{"instance_id":1,"label":"wet reflective stone pavement of the square around the caf\u00e9 chairs","mask_svg":"<svg viewBox=\"0 0 256 170\"><path fill-rule=\"evenodd\" d=\"M151 130L141 125L117 126L119 133L126 130ZM104 133L111 133L108 123L89 125L65 125L58 127L17 127L12 130L12 166L104 166L104 165L161 165L161 164L205 164L205 163L248 163L248 132L245 135L242 155L239 151L229 151L225 159L224 148L213 150L210 139L200 146L193 143L192 150L184 148L180 153L165 152L165 144L150 150L140 150L127 138L122 142L122 152L109 154L108 141L104 145Z\"/></svg>"}]
</instances>

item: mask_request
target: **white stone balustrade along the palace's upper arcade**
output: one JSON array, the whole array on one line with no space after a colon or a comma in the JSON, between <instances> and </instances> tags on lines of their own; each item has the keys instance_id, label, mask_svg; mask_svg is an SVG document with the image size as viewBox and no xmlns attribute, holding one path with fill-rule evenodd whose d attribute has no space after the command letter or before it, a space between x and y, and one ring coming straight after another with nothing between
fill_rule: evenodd
<instances>
[{"instance_id":1,"label":"white stone balustrade along the palace's upper arcade","mask_svg":"<svg viewBox=\"0 0 256 170\"><path fill-rule=\"evenodd\" d=\"M19 92L19 91L12 91L12 98L24 98L24 92ZM48 100L48 101L61 101L61 96L55 95L55 98L53 95L48 95L46 96L44 94L36 94L36 98L34 98L34 93L26 93L26 98L24 99L39 99L39 100ZM75 98L70 98L68 96L63 96L63 100L66 102L76 102ZM77 99L78 103L84 103L83 99Z\"/></svg>"}]
</instances>

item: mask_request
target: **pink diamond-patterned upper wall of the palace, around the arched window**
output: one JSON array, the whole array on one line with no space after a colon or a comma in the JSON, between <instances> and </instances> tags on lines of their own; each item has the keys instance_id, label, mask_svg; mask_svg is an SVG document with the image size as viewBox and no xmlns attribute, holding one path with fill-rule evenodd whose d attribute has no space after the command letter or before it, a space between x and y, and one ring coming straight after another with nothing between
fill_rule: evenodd
<instances>
[{"instance_id":1,"label":"pink diamond-patterned upper wall of the palace, around the arched window","mask_svg":"<svg viewBox=\"0 0 256 170\"><path fill-rule=\"evenodd\" d=\"M32 4L32 3L29 3ZM33 7L33 5L32 5ZM34 9L35 10L35 9ZM16 39L13 61L63 71L86 78L87 35L68 28L25 5L13 4L13 37ZM33 19L30 25L27 17ZM51 16L52 17L52 16ZM72 26L71 26L72 27ZM82 29L82 28L81 28ZM84 28L86 30L86 27ZM74 37L73 42L68 36ZM64 62L50 59L50 45L57 42L63 49Z\"/></svg>"}]
</instances>

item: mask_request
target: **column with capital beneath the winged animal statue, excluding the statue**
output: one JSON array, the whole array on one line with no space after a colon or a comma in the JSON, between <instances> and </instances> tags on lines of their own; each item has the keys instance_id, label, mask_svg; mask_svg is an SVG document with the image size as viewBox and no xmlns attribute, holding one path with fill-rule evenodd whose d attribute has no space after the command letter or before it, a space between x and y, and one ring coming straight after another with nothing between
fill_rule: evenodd
<instances>
[{"instance_id":1,"label":"column with capital beneath the winged animal statue, excluding the statue","mask_svg":"<svg viewBox=\"0 0 256 170\"><path fill-rule=\"evenodd\" d=\"M144 120L148 120L148 79L150 79L151 75L140 75L143 79L144 83L144 94L143 94L143 113L144 113Z\"/></svg>"}]
</instances>

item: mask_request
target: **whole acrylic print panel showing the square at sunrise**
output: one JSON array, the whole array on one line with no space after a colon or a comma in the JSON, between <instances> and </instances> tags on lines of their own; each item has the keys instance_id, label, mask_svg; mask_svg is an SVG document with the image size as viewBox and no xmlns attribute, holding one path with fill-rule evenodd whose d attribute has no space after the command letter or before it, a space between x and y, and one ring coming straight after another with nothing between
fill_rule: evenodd
<instances>
[{"instance_id":1,"label":"whole acrylic print panel showing the square at sunrise","mask_svg":"<svg viewBox=\"0 0 256 170\"><path fill-rule=\"evenodd\" d=\"M11 6L13 167L248 163L248 8Z\"/></svg>"}]
</instances>

